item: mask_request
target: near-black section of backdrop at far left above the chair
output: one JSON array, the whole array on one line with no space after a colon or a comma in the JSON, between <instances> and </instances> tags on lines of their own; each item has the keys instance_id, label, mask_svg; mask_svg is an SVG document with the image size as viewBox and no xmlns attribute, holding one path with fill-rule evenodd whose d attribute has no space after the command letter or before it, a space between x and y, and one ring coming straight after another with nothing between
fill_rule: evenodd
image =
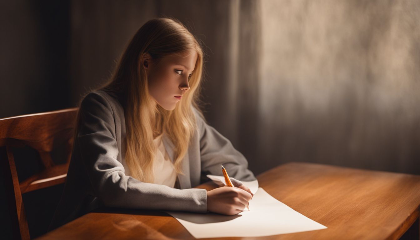
<instances>
[{"instance_id":1,"label":"near-black section of backdrop at far left above the chair","mask_svg":"<svg viewBox=\"0 0 420 240\"><path fill-rule=\"evenodd\" d=\"M2 1L0 118L70 102L70 1Z\"/></svg>"}]
</instances>

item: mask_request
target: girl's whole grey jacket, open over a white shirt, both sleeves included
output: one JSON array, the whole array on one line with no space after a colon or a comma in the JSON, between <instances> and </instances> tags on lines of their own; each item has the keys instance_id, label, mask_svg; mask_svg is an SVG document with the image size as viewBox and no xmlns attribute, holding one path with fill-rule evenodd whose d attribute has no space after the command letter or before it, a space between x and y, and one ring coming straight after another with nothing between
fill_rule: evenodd
<instances>
[{"instance_id":1,"label":"girl's whole grey jacket, open over a white shirt, both sleeves included","mask_svg":"<svg viewBox=\"0 0 420 240\"><path fill-rule=\"evenodd\" d=\"M193 107L192 107L193 108ZM98 90L89 93L79 108L79 132L74 141L63 195L50 230L100 206L207 212L207 192L194 189L208 181L206 174L229 176L242 181L255 180L245 157L231 142L205 123L193 108L197 131L182 161L177 187L140 182L124 174L126 126L124 110L115 95ZM174 145L163 135L171 161Z\"/></svg>"}]
</instances>

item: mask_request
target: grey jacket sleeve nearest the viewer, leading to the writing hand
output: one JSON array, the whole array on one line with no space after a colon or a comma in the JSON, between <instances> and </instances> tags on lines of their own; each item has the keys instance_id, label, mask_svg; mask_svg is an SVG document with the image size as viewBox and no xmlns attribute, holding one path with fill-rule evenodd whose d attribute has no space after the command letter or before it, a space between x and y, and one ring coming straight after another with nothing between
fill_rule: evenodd
<instances>
[{"instance_id":1,"label":"grey jacket sleeve nearest the viewer, leading to the writing hand","mask_svg":"<svg viewBox=\"0 0 420 240\"><path fill-rule=\"evenodd\" d=\"M124 174L117 160L113 110L106 98L92 92L80 106L80 160L87 170L95 197L105 206L168 211L207 212L204 189L175 189L141 182Z\"/></svg>"}]
</instances>

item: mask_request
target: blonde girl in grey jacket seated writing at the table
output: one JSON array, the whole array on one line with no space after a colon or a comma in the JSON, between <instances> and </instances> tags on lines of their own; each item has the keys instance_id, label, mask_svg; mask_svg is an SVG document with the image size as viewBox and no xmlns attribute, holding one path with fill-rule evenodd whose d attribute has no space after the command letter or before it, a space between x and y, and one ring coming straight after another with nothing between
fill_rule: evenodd
<instances>
[{"instance_id":1,"label":"blonde girl in grey jacket seated writing at the table","mask_svg":"<svg viewBox=\"0 0 420 240\"><path fill-rule=\"evenodd\" d=\"M81 102L50 229L100 206L226 215L248 206L252 193L239 180L255 176L199 111L202 71L202 48L176 19L138 30L110 82ZM235 187L192 188L222 175L221 164Z\"/></svg>"}]
</instances>

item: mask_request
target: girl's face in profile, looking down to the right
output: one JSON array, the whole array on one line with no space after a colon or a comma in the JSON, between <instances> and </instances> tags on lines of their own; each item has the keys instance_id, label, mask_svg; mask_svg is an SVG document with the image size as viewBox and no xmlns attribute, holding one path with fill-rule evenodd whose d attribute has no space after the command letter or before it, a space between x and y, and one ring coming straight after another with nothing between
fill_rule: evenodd
<instances>
[{"instance_id":1,"label":"girl's face in profile, looking down to the right","mask_svg":"<svg viewBox=\"0 0 420 240\"><path fill-rule=\"evenodd\" d=\"M158 63L153 63L148 53L143 56L149 94L162 108L173 110L189 90L188 82L195 70L197 52L191 50L181 55L168 56Z\"/></svg>"}]
</instances>

